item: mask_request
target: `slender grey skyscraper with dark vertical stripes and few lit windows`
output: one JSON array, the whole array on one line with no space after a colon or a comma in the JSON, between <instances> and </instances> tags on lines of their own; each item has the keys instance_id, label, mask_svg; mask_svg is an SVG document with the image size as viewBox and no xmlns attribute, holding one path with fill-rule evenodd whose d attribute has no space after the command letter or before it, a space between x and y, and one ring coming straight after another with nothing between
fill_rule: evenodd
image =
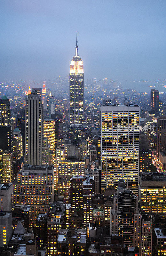
<instances>
[{"instance_id":1,"label":"slender grey skyscraper with dark vertical stripes and few lit windows","mask_svg":"<svg viewBox=\"0 0 166 256\"><path fill-rule=\"evenodd\" d=\"M33 91L25 107L25 163L42 165L43 105L40 95Z\"/></svg>"}]
</instances>

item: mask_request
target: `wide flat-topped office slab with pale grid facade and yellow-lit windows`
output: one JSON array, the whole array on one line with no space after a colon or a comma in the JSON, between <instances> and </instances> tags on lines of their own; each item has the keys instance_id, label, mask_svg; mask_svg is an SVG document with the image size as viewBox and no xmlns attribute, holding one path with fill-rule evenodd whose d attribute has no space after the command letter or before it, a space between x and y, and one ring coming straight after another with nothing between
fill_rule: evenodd
<instances>
[{"instance_id":1,"label":"wide flat-topped office slab with pale grid facade and yellow-lit windows","mask_svg":"<svg viewBox=\"0 0 166 256\"><path fill-rule=\"evenodd\" d=\"M138 195L139 106L101 106L101 192L117 180Z\"/></svg>"}]
</instances>

